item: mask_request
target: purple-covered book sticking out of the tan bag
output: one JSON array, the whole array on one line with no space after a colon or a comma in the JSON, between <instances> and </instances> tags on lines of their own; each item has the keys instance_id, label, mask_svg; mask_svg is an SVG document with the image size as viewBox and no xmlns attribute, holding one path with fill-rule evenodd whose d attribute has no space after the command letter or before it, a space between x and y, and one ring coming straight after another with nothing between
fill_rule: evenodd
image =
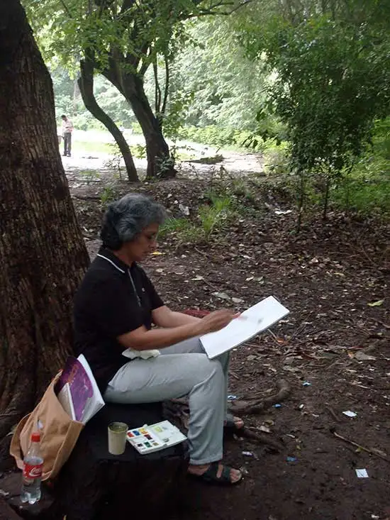
<instances>
[{"instance_id":1,"label":"purple-covered book sticking out of the tan bag","mask_svg":"<svg viewBox=\"0 0 390 520\"><path fill-rule=\"evenodd\" d=\"M55 393L67 414L74 421L84 424L104 406L103 397L84 355L67 358L55 385Z\"/></svg>"}]
</instances>

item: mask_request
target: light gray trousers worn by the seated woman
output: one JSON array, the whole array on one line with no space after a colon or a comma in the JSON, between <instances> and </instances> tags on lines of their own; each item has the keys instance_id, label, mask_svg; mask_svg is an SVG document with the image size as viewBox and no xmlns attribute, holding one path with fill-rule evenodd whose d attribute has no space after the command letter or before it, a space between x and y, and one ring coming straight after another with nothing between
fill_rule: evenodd
<instances>
[{"instance_id":1,"label":"light gray trousers worn by the seated woman","mask_svg":"<svg viewBox=\"0 0 390 520\"><path fill-rule=\"evenodd\" d=\"M123 365L108 383L104 400L136 404L188 395L190 463L211 463L223 455L228 366L229 353L209 360L199 339L191 338L162 348L157 358Z\"/></svg>"}]
</instances>

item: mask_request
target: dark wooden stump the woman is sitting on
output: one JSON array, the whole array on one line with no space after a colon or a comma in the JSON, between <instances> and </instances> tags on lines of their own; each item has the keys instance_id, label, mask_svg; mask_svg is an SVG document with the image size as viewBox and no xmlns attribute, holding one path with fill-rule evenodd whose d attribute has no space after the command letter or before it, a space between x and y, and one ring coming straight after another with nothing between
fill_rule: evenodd
<instances>
[{"instance_id":1,"label":"dark wooden stump the woman is sitting on","mask_svg":"<svg viewBox=\"0 0 390 520\"><path fill-rule=\"evenodd\" d=\"M130 519L135 514L148 519L157 513L163 518L184 496L187 444L140 455L126 443L123 455L111 455L107 441L113 421L135 428L163 419L161 403L106 404L85 426L49 493L44 489L44 497L54 496L52 504L48 502L47 509L41 503L23 504L20 509L15 496L9 503L26 519L37 514L45 520L62 520L65 515L67 520Z\"/></svg>"}]
</instances>

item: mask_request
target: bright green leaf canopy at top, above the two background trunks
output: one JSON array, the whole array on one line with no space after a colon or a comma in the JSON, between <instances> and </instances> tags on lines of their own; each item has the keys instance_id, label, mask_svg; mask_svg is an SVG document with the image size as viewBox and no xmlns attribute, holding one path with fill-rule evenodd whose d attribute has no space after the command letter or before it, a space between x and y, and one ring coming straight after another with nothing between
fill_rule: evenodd
<instances>
[{"instance_id":1,"label":"bright green leaf canopy at top, above the two background trunks","mask_svg":"<svg viewBox=\"0 0 390 520\"><path fill-rule=\"evenodd\" d=\"M157 55L170 55L182 45L186 19L218 13L225 5L235 9L230 0L23 0L23 4L45 57L59 57L69 67L93 50L101 72L121 56L121 67L141 76Z\"/></svg>"}]
</instances>

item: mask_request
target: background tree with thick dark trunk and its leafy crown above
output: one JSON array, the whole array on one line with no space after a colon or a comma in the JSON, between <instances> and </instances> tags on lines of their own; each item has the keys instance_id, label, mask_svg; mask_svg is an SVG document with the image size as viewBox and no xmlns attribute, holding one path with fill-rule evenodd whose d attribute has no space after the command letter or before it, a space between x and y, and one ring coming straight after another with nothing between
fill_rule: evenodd
<instances>
[{"instance_id":1,"label":"background tree with thick dark trunk and its leafy crown above","mask_svg":"<svg viewBox=\"0 0 390 520\"><path fill-rule=\"evenodd\" d=\"M160 100L166 96L161 94L161 84L156 83L154 114L145 94L145 73L152 65L157 78L157 58L163 57L167 72L163 87L167 89L167 64L172 52L184 44L184 21L218 13L225 4L233 10L234 4L228 0L45 0L39 5L25 0L25 4L30 6L35 26L50 28L50 38L46 38L49 54L61 55L67 65L77 56L91 60L94 70L126 98L145 137L147 177L175 175L174 160L162 135L162 109L166 104Z\"/></svg>"}]
</instances>

